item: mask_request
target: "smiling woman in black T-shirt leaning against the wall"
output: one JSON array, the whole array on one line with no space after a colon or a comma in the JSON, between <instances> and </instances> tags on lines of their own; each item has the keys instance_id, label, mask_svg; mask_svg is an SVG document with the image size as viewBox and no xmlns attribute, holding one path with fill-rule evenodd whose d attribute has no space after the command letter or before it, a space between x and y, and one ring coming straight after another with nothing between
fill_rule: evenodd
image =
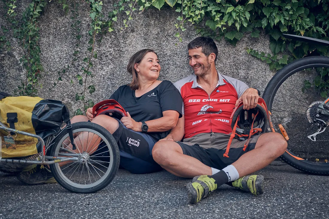
<instances>
[{"instance_id":1,"label":"smiling woman in black T-shirt leaning against the wall","mask_svg":"<svg viewBox=\"0 0 329 219\"><path fill-rule=\"evenodd\" d=\"M133 76L132 82L120 86L110 97L127 111L127 116L120 121L107 115L94 117L89 108L87 116L74 116L71 122L89 120L106 128L118 143L120 166L131 173L156 172L162 168L153 160L152 148L176 126L183 101L170 81L157 80L161 67L153 50L135 53L127 70Z\"/></svg>"}]
</instances>

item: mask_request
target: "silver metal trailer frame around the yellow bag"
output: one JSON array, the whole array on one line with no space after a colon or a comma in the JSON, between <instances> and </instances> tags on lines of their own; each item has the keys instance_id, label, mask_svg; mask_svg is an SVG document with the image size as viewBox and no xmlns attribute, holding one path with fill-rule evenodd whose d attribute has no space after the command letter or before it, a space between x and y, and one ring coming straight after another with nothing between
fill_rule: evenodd
<instances>
[{"instance_id":1,"label":"silver metal trailer frame around the yellow bag","mask_svg":"<svg viewBox=\"0 0 329 219\"><path fill-rule=\"evenodd\" d=\"M82 160L80 159L80 156L78 154L59 153L59 155L61 155L61 156L67 156L68 155L68 156L71 156L71 158L46 156L46 145L44 143L44 140L36 134L31 134L31 133L27 133L27 132L18 131L16 129L7 128L2 123L0 123L0 130L4 130L4 131L9 132L9 133L13 132L15 134L23 134L23 135L26 135L26 136L38 138L38 140L42 144L42 153L39 156L39 157L41 157L41 160L22 160L22 159L2 158L2 147L1 147L2 146L2 142L1 142L2 140L0 138L0 162L21 163L21 164L40 164L40 165L48 165L48 164L54 164L54 163L59 163L59 162L64 162L64 161L82 162ZM69 151L67 149L63 149L63 151L71 153L71 151ZM46 161L46 159L47 159L47 161Z\"/></svg>"}]
</instances>

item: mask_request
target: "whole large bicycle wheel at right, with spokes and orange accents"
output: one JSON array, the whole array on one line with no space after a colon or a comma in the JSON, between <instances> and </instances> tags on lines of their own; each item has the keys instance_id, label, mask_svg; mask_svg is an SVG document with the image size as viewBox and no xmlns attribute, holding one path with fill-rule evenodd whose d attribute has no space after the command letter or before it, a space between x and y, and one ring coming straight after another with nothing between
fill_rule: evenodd
<instances>
[{"instance_id":1,"label":"whole large bicycle wheel at right, with spokes and orange accents","mask_svg":"<svg viewBox=\"0 0 329 219\"><path fill-rule=\"evenodd\" d=\"M329 57L296 60L273 76L263 94L274 131L282 133L281 126L289 137L288 149L281 158L309 174L329 175L329 128L317 134L316 141L309 137L319 131L316 109L326 99L313 82L328 80L328 69ZM329 121L325 115L320 119Z\"/></svg>"}]
</instances>

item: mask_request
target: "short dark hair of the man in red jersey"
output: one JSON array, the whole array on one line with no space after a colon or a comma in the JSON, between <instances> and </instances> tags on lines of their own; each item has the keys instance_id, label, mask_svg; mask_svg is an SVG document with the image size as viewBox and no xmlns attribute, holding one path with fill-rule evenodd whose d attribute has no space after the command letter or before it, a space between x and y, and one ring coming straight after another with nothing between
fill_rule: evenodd
<instances>
[{"instance_id":1,"label":"short dark hair of the man in red jersey","mask_svg":"<svg viewBox=\"0 0 329 219\"><path fill-rule=\"evenodd\" d=\"M215 63L217 60L218 49L214 42L214 40L210 37L197 37L190 41L189 45L187 46L188 49L197 49L202 47L202 53L205 54L207 57L211 53L215 53Z\"/></svg>"}]
</instances>

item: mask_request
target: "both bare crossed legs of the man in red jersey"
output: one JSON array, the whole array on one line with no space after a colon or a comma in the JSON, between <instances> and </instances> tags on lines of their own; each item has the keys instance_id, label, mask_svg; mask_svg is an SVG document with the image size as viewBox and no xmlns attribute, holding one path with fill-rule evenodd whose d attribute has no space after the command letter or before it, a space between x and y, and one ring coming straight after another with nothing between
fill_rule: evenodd
<instances>
[{"instance_id":1,"label":"both bare crossed legs of the man in red jersey","mask_svg":"<svg viewBox=\"0 0 329 219\"><path fill-rule=\"evenodd\" d=\"M287 142L281 134L265 133L259 137L254 150L242 155L232 165L240 176L245 176L266 167L281 156L286 148ZM196 158L184 155L176 142L157 142L152 155L158 164L176 176L193 178L198 175L212 175L211 167Z\"/></svg>"}]
</instances>

